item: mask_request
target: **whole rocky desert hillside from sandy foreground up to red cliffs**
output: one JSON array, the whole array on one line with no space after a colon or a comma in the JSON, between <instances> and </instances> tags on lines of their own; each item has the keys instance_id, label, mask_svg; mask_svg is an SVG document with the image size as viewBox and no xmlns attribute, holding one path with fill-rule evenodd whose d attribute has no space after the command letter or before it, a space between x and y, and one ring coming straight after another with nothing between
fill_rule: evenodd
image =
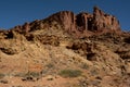
<instances>
[{"instance_id":1,"label":"whole rocky desert hillside from sandy foreground up to red cliffs","mask_svg":"<svg viewBox=\"0 0 130 87\"><path fill-rule=\"evenodd\" d=\"M130 87L129 40L96 7L0 30L0 87Z\"/></svg>"}]
</instances>

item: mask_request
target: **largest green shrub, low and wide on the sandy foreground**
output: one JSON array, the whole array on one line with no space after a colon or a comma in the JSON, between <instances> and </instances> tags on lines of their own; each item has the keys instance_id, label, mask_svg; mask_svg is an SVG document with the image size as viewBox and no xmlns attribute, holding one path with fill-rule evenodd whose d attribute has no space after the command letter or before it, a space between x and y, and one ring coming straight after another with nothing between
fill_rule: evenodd
<instances>
[{"instance_id":1,"label":"largest green shrub, low and wide on the sandy foreground","mask_svg":"<svg viewBox=\"0 0 130 87\"><path fill-rule=\"evenodd\" d=\"M79 70L62 70L60 75L63 77L78 77L81 75L81 71Z\"/></svg>"}]
</instances>

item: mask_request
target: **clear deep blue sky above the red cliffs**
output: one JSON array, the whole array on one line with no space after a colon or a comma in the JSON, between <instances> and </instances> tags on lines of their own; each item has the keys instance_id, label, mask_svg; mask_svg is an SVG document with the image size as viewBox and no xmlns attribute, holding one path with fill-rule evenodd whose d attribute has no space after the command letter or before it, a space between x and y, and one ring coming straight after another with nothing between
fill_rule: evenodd
<instances>
[{"instance_id":1,"label":"clear deep blue sky above the red cliffs","mask_svg":"<svg viewBox=\"0 0 130 87\"><path fill-rule=\"evenodd\" d=\"M98 5L115 15L125 30L130 30L130 0L0 0L0 28L42 20L58 11L92 13Z\"/></svg>"}]
</instances>

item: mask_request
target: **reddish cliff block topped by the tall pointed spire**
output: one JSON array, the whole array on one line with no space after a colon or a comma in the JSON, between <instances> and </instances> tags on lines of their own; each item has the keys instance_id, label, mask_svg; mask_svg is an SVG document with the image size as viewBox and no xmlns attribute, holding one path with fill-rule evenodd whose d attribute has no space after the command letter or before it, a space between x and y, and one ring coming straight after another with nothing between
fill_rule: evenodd
<instances>
[{"instance_id":1,"label":"reddish cliff block topped by the tall pointed spire","mask_svg":"<svg viewBox=\"0 0 130 87\"><path fill-rule=\"evenodd\" d=\"M115 16L109 15L101 11L98 7L94 7L93 10L93 22L92 22L92 30L104 30L107 29L109 32L120 30L119 22Z\"/></svg>"}]
</instances>

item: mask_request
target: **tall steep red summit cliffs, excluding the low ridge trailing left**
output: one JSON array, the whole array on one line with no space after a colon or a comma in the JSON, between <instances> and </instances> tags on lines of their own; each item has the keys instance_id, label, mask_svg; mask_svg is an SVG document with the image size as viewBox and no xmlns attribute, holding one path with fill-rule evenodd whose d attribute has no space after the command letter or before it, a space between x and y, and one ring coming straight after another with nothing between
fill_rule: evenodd
<instances>
[{"instance_id":1,"label":"tall steep red summit cliffs, excluding the low ridge trailing left","mask_svg":"<svg viewBox=\"0 0 130 87\"><path fill-rule=\"evenodd\" d=\"M119 32L120 25L118 20L109 14L104 13L98 7L94 7L93 14L63 11L50 16L51 21L56 21L64 26L68 33L87 35L89 32Z\"/></svg>"}]
</instances>

